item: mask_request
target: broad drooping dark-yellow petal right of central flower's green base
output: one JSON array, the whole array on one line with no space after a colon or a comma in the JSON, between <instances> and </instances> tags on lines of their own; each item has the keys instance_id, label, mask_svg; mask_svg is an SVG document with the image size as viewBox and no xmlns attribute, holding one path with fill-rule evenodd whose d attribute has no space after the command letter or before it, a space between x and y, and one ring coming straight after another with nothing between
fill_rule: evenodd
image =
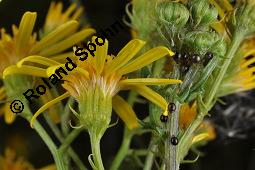
<instances>
[{"instance_id":1,"label":"broad drooping dark-yellow petal right of central flower's green base","mask_svg":"<svg viewBox=\"0 0 255 170\"><path fill-rule=\"evenodd\" d=\"M129 129L138 127L137 117L132 107L120 96L112 99L112 107Z\"/></svg>"}]
</instances>

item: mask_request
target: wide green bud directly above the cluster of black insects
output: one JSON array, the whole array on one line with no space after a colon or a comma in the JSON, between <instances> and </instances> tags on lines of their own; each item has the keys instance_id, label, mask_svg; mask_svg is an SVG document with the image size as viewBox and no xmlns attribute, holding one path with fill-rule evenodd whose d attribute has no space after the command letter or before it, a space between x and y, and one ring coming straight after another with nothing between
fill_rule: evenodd
<instances>
[{"instance_id":1,"label":"wide green bud directly above the cluster of black insects","mask_svg":"<svg viewBox=\"0 0 255 170\"><path fill-rule=\"evenodd\" d=\"M210 51L216 56L226 53L226 43L216 32L192 31L186 34L184 42L192 53L205 54Z\"/></svg>"}]
</instances>

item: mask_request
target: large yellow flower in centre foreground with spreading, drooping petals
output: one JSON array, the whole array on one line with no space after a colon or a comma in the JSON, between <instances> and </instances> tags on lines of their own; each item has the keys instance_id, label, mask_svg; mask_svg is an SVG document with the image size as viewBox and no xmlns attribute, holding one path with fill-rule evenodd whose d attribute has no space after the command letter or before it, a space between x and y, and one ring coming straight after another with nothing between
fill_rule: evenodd
<instances>
[{"instance_id":1,"label":"large yellow flower in centre foreground with spreading, drooping petals","mask_svg":"<svg viewBox=\"0 0 255 170\"><path fill-rule=\"evenodd\" d=\"M96 37L93 37L92 42L94 44L95 40ZM173 52L165 47L156 47L134 59L136 54L145 45L144 41L134 39L131 40L117 54L116 57L114 57L112 55L108 55L108 41L104 41L105 42L102 46L96 46L95 57L93 57L90 53L87 53L89 55L84 61L78 60L77 57L75 58L77 67L72 70L72 72L68 72L67 76L64 76L65 82L63 84L63 87L67 90L67 92L41 107L34 114L34 117L31 120L31 125L40 113L42 113L55 103L59 102L60 100L63 100L64 98L71 95L78 100L79 105L83 105L85 103L85 110L90 109L91 111L92 109L94 114L92 116L97 115L98 108L108 106L111 108L112 104L113 109L126 123L126 125L129 128L135 128L138 126L136 115L131 106L128 105L128 103L122 97L117 95L120 90L135 90L140 95L162 108L164 110L164 115L168 114L167 102L162 96L153 91L151 88L147 87L147 85L176 84L181 83L180 80L158 78L127 79L123 77L123 75L136 71L146 65L149 65L150 63L166 55L172 56ZM76 50L76 48L74 48L74 50ZM18 65L20 66L21 74L25 73L24 71L22 71L22 69L24 67L27 67L26 65L23 65L23 63L27 61L35 63L45 63L46 66L50 66L47 69L42 69L40 72L38 72L39 68L31 68L29 71L26 72L26 74L29 75L45 75L46 73L48 73L49 77L52 73L54 73L56 69L58 69L60 66L63 66L63 64L61 63L58 63L58 65L56 65L56 61L50 60L48 58L30 56L21 60L18 63ZM18 72L9 69L5 70L6 75L12 73ZM104 103L105 100L107 101L107 104ZM86 111L88 112L88 110ZM106 111L108 110L102 110L102 112ZM76 114L77 117L80 117L78 113L76 113L75 111L73 112ZM99 119L99 117L102 117L104 115L97 116ZM88 119L85 119L84 121L88 122L87 120Z\"/></svg>"}]
</instances>

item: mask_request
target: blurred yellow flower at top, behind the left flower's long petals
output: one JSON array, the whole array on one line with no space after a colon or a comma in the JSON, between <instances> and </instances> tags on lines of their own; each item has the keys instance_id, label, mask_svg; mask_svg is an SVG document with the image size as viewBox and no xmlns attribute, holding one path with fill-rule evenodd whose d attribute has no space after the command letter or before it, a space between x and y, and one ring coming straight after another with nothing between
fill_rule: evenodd
<instances>
[{"instance_id":1,"label":"blurred yellow flower at top, behind the left flower's long petals","mask_svg":"<svg viewBox=\"0 0 255 170\"><path fill-rule=\"evenodd\" d=\"M62 2L51 2L43 27L43 33L47 34L68 21L79 20L82 12L83 8L77 8L77 5L74 3L63 12Z\"/></svg>"}]
</instances>

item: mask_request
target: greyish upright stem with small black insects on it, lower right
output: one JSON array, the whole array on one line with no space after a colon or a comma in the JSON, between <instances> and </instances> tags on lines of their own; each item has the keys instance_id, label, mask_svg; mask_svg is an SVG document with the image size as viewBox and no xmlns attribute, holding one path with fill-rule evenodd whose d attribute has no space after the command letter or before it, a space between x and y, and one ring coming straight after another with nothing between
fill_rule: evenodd
<instances>
[{"instance_id":1,"label":"greyish upright stem with small black insects on it, lower right","mask_svg":"<svg viewBox=\"0 0 255 170\"><path fill-rule=\"evenodd\" d=\"M165 160L166 160L166 170L178 170L179 169L179 160L177 157L177 147L171 144L171 137L177 137L179 131L179 111L181 104L178 101L174 101L176 110L171 113L170 121L167 123L167 136L168 138L165 141Z\"/></svg>"}]
</instances>

